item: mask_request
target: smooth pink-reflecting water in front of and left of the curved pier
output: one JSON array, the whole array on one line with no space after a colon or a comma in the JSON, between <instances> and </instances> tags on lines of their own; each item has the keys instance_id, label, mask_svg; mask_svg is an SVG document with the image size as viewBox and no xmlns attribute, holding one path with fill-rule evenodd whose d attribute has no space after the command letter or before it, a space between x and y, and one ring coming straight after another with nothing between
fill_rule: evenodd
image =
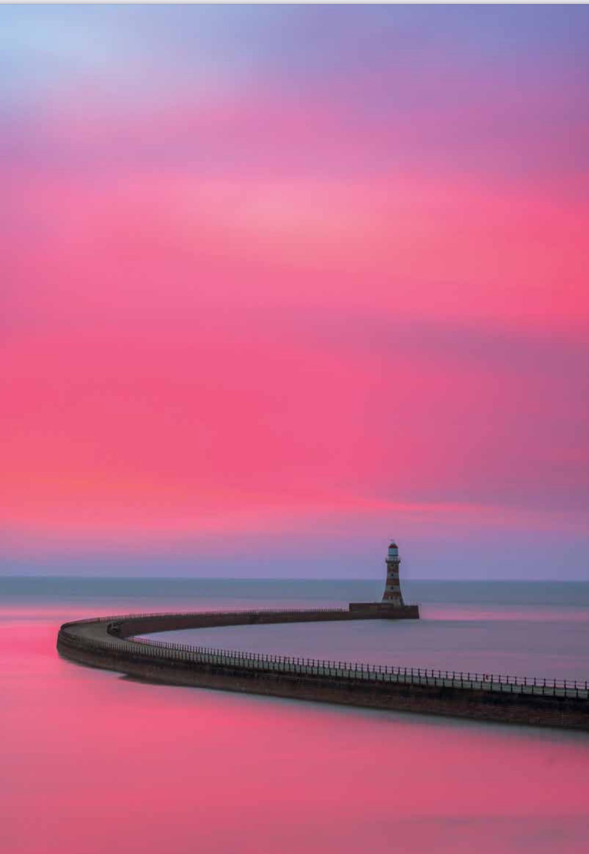
<instances>
[{"instance_id":1,"label":"smooth pink-reflecting water in front of and left of the curved pier","mask_svg":"<svg viewBox=\"0 0 589 854\"><path fill-rule=\"evenodd\" d=\"M91 612L0 609L2 854L589 850L589 734L142 684L56 655Z\"/></svg>"}]
</instances>

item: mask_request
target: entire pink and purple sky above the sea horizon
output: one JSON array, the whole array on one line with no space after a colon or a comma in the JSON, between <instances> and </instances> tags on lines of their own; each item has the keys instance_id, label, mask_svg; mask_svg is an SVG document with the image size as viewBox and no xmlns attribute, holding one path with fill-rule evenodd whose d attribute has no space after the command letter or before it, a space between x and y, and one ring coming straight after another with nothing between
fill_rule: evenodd
<instances>
[{"instance_id":1,"label":"entire pink and purple sky above the sea horizon","mask_svg":"<svg viewBox=\"0 0 589 854\"><path fill-rule=\"evenodd\" d=\"M0 9L0 572L589 580L589 9Z\"/></svg>"}]
</instances>

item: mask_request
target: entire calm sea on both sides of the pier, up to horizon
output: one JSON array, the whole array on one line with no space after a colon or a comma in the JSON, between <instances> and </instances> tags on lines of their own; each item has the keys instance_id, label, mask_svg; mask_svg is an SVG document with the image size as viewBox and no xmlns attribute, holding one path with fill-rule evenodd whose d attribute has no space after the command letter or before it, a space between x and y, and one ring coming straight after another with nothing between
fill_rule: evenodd
<instances>
[{"instance_id":1,"label":"entire calm sea on both sides of the pier, up to horizon","mask_svg":"<svg viewBox=\"0 0 589 854\"><path fill-rule=\"evenodd\" d=\"M380 590L0 578L2 854L585 854L589 734L149 685L55 651L59 624L76 617L345 605ZM418 623L174 635L315 658L589 678L589 584L407 582L404 592L421 603Z\"/></svg>"}]
</instances>

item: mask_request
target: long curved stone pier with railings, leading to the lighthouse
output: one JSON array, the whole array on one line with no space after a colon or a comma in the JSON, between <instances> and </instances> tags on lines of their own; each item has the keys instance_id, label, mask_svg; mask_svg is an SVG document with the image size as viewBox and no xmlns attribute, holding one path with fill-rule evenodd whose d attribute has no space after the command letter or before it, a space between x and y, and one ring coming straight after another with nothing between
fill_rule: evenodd
<instances>
[{"instance_id":1,"label":"long curved stone pier with railings, leading to the lighthouse","mask_svg":"<svg viewBox=\"0 0 589 854\"><path fill-rule=\"evenodd\" d=\"M413 609L413 610L412 610ZM416 606L393 618L415 618ZM318 661L187 646L136 635L174 629L378 618L356 608L197 611L98 617L64 623L65 658L144 680L277 697L589 730L587 682L539 680L350 662ZM389 613L387 618L391 618Z\"/></svg>"}]
</instances>

